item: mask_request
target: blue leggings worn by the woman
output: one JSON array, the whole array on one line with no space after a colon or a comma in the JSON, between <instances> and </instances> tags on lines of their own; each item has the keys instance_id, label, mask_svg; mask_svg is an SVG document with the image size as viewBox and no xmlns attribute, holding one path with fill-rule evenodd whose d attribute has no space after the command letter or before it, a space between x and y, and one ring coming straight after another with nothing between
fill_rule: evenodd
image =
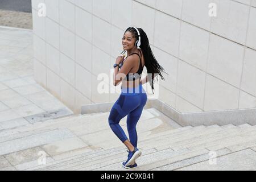
<instances>
[{"instance_id":1,"label":"blue leggings worn by the woman","mask_svg":"<svg viewBox=\"0 0 256 182\"><path fill-rule=\"evenodd\" d=\"M122 92L118 100L114 103L109 114L109 126L122 142L125 142L128 138L126 137L122 127L119 125L119 122L127 115L126 123L130 142L134 147L137 147L138 137L136 125L141 117L141 113L146 102L147 94L145 92L137 94Z\"/></svg>"}]
</instances>

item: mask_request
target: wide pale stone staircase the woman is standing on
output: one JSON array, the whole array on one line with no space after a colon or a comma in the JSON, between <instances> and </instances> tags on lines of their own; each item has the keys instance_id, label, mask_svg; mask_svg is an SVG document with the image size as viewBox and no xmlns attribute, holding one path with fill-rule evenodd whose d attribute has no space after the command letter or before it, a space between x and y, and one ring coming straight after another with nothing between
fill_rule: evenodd
<instances>
[{"instance_id":1,"label":"wide pale stone staircase the woman is standing on","mask_svg":"<svg viewBox=\"0 0 256 182\"><path fill-rule=\"evenodd\" d=\"M110 130L108 116L78 114L0 131L0 170L127 170L121 165L126 147ZM126 117L120 124L127 135ZM137 133L142 156L131 171L256 169L256 126L181 127L150 108L143 110ZM46 164L38 162L39 152ZM240 160L232 159L240 158L234 168Z\"/></svg>"}]
</instances>

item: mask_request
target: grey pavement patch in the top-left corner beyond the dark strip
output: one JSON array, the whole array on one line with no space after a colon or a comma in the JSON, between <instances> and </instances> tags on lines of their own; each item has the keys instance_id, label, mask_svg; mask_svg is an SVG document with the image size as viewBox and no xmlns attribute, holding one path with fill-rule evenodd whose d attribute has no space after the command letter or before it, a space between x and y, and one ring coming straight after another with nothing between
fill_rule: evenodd
<instances>
[{"instance_id":1,"label":"grey pavement patch in the top-left corner beyond the dark strip","mask_svg":"<svg viewBox=\"0 0 256 182\"><path fill-rule=\"evenodd\" d=\"M31 13L31 0L1 0L0 9Z\"/></svg>"}]
</instances>

